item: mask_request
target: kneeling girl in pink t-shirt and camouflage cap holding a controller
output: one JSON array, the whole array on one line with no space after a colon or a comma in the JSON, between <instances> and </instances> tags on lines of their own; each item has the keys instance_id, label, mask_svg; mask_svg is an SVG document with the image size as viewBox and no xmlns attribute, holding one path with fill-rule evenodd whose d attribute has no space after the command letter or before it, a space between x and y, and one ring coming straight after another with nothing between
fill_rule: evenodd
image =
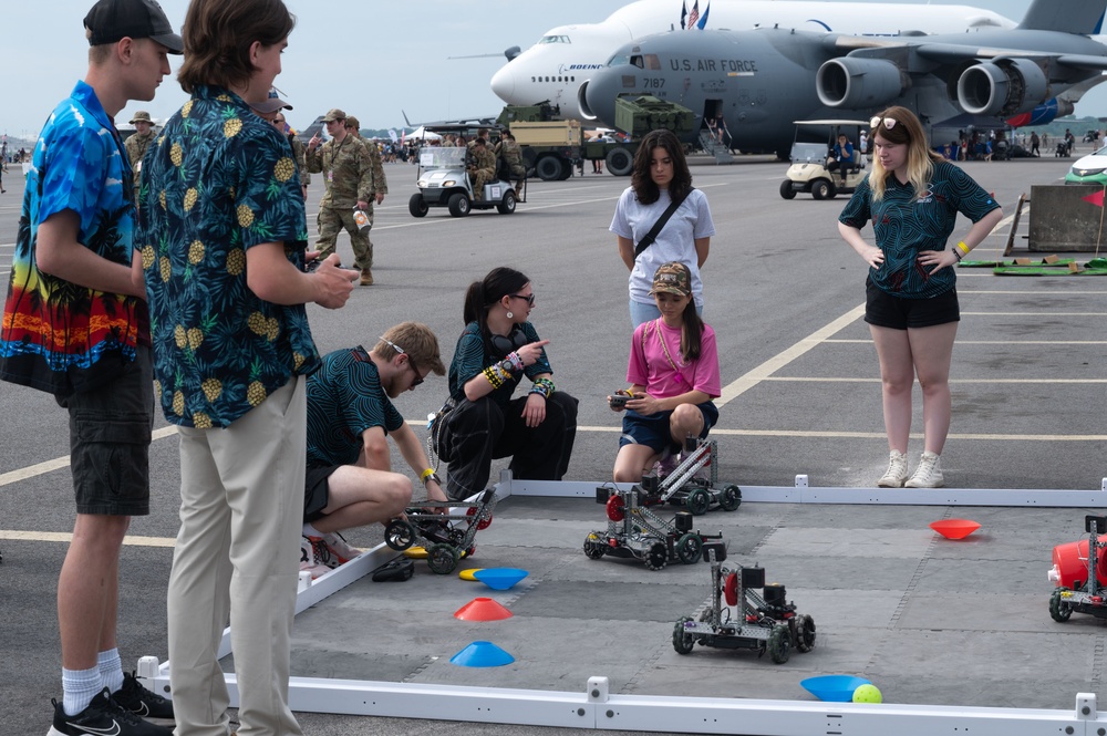
<instances>
[{"instance_id":1,"label":"kneeling girl in pink t-shirt and camouflage cap holding a controller","mask_svg":"<svg viewBox=\"0 0 1107 736\"><path fill-rule=\"evenodd\" d=\"M715 331L696 314L687 266L660 267L650 294L661 318L634 330L631 386L608 396L613 411L627 410L615 483L638 483L659 459L679 453L686 437L706 437L718 419L711 401L720 394Z\"/></svg>"}]
</instances>

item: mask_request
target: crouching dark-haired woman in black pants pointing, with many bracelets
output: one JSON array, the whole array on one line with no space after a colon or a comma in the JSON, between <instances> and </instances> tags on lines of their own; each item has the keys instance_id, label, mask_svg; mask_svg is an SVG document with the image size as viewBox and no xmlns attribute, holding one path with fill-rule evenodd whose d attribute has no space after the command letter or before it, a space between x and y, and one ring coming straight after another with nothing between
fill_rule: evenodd
<instances>
[{"instance_id":1,"label":"crouching dark-haired woman in black pants pointing, with many bracelets","mask_svg":"<svg viewBox=\"0 0 1107 736\"><path fill-rule=\"evenodd\" d=\"M545 345L528 321L535 291L523 273L493 269L465 294L465 329L449 364L454 408L432 428L448 464L446 494L463 500L484 490L494 458L510 457L527 480L560 480L577 436L577 400L557 391ZM513 398L524 376L530 390Z\"/></svg>"}]
</instances>

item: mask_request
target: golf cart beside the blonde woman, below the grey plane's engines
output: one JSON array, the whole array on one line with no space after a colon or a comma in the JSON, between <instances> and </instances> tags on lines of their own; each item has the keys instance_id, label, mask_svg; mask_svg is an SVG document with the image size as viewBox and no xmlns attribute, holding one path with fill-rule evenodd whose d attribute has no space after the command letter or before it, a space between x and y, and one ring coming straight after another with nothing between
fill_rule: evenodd
<instances>
[{"instance_id":1,"label":"golf cart beside the blonde woman, below the grey plane's engines","mask_svg":"<svg viewBox=\"0 0 1107 736\"><path fill-rule=\"evenodd\" d=\"M780 196L795 199L799 191L810 193L816 199L834 199L835 195L852 194L866 176L866 156L858 147L862 129L869 127L867 121L823 120L796 121L796 139L792 144L792 166L780 183ZM841 186L841 173L827 168L827 159L832 160L838 134L842 133L853 145L853 165L846 173L846 186ZM813 137L824 136L823 143L810 143Z\"/></svg>"}]
</instances>

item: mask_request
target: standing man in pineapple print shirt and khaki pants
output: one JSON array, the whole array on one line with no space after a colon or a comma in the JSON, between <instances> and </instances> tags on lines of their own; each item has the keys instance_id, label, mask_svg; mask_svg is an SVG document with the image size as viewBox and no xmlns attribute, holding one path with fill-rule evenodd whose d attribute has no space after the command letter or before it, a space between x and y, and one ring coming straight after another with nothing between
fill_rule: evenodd
<instances>
[{"instance_id":1,"label":"standing man in pineapple print shirt and khaki pants","mask_svg":"<svg viewBox=\"0 0 1107 736\"><path fill-rule=\"evenodd\" d=\"M192 0L177 80L190 99L144 160L138 245L155 395L179 426L180 529L167 595L178 734L227 734L217 645L229 614L239 732L300 734L288 707L307 446L306 302L356 273L306 272L292 149L250 108L280 73L280 0ZM223 50L234 49L235 53Z\"/></svg>"}]
</instances>

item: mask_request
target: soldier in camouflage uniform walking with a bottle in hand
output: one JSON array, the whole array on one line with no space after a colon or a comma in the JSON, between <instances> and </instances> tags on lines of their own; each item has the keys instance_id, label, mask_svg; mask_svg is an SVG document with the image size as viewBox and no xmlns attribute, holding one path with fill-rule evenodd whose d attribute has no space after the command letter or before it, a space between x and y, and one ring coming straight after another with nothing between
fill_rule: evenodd
<instances>
[{"instance_id":1,"label":"soldier in camouflage uniform walking with a bottle in hand","mask_svg":"<svg viewBox=\"0 0 1107 736\"><path fill-rule=\"evenodd\" d=\"M320 147L319 135L308 142L308 170L323 174L327 194L319 203L319 240L315 245L320 258L335 251L339 230L345 228L353 247L354 266L361 270L361 286L373 283L373 249L369 235L354 221L354 209L369 212L376 186L373 182L373 160L361 138L350 135L345 127L346 114L332 108L323 116L331 139Z\"/></svg>"}]
</instances>

